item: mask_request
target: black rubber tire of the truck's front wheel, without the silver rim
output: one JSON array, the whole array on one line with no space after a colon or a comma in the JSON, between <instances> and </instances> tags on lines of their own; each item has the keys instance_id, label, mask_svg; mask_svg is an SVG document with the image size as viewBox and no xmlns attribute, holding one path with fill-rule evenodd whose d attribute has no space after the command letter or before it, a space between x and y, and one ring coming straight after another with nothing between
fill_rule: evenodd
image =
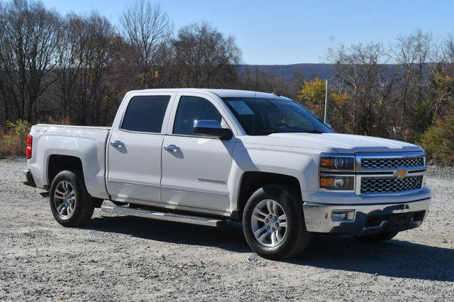
<instances>
[{"instance_id":1,"label":"black rubber tire of the truck's front wheel, without the silver rim","mask_svg":"<svg viewBox=\"0 0 454 302\"><path fill-rule=\"evenodd\" d=\"M255 206L265 199L277 201L287 216L287 230L284 239L275 247L262 245L255 238L251 225ZM288 186L267 185L258 189L250 196L243 211L243 231L250 248L261 257L267 259L287 259L295 257L306 248L311 233L306 230L303 203L301 196Z\"/></svg>"}]
</instances>

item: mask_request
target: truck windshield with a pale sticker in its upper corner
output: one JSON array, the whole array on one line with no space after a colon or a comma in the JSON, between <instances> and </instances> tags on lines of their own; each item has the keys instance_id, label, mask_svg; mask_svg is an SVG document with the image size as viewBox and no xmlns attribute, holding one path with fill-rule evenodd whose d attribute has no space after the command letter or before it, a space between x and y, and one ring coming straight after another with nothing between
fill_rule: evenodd
<instances>
[{"instance_id":1,"label":"truck windshield with a pale sticker in its upper corner","mask_svg":"<svg viewBox=\"0 0 454 302\"><path fill-rule=\"evenodd\" d=\"M333 133L319 118L289 99L223 98L248 135Z\"/></svg>"}]
</instances>

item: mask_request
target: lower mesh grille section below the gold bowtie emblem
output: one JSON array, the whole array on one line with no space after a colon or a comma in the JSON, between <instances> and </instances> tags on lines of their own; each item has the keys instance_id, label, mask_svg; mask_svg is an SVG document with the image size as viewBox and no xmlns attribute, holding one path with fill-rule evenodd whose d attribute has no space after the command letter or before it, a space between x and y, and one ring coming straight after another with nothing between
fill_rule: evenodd
<instances>
[{"instance_id":1,"label":"lower mesh grille section below the gold bowtie emblem","mask_svg":"<svg viewBox=\"0 0 454 302\"><path fill-rule=\"evenodd\" d=\"M421 189L423 176L405 177L362 177L361 193L393 193Z\"/></svg>"}]
</instances>

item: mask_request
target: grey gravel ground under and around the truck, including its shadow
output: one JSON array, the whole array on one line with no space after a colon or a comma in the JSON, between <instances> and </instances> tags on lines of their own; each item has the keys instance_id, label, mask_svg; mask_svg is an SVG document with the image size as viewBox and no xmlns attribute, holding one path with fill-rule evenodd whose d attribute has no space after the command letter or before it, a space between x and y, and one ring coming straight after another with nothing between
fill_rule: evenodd
<instances>
[{"instance_id":1,"label":"grey gravel ground under and around the truck, including its shadow","mask_svg":"<svg viewBox=\"0 0 454 302\"><path fill-rule=\"evenodd\" d=\"M431 168L431 215L381 246L313 237L297 259L253 254L240 226L135 217L62 228L24 186L24 160L0 160L1 300L418 300L454 298L454 172Z\"/></svg>"}]
</instances>

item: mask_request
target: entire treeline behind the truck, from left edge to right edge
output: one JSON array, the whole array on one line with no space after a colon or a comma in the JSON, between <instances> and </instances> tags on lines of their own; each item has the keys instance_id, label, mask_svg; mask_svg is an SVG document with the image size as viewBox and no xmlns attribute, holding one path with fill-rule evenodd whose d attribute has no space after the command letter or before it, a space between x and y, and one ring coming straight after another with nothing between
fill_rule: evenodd
<instances>
[{"instance_id":1,"label":"entire treeline behind the truck, from left edge to right edge","mask_svg":"<svg viewBox=\"0 0 454 302\"><path fill-rule=\"evenodd\" d=\"M148 0L131 1L118 26L96 12L0 0L0 123L109 125L126 91L163 87L279 91L323 118L324 79L255 67L240 76L240 61L233 37L204 22L176 30ZM454 164L454 36L416 30L392 45L328 50L326 62L336 131L421 143L434 162Z\"/></svg>"}]
</instances>

